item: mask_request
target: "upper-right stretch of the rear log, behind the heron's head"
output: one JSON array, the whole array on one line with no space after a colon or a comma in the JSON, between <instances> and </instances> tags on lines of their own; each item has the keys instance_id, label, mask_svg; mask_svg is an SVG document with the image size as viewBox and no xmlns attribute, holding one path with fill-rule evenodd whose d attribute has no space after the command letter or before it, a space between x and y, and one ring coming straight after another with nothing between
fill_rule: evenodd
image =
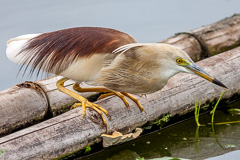
<instances>
[{"instance_id":1,"label":"upper-right stretch of the rear log, behind the heron's head","mask_svg":"<svg viewBox=\"0 0 240 160\"><path fill-rule=\"evenodd\" d=\"M240 14L161 41L185 50L194 61L240 45Z\"/></svg>"}]
</instances>

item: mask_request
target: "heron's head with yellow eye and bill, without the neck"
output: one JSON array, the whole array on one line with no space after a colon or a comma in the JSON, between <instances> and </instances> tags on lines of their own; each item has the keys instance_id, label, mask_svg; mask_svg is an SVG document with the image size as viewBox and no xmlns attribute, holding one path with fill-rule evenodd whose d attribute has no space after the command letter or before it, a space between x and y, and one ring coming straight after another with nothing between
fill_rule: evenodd
<instances>
[{"instance_id":1,"label":"heron's head with yellow eye and bill, without the neck","mask_svg":"<svg viewBox=\"0 0 240 160\"><path fill-rule=\"evenodd\" d=\"M170 71L170 74L172 72L173 75L178 72L195 74L218 86L227 89L227 87L223 83L221 83L219 80L209 75L199 66L197 66L189 57L189 55L183 50L172 45L160 43L156 44L155 51L160 52L159 60L161 65L164 66L164 68L166 69L166 73Z\"/></svg>"}]
</instances>

